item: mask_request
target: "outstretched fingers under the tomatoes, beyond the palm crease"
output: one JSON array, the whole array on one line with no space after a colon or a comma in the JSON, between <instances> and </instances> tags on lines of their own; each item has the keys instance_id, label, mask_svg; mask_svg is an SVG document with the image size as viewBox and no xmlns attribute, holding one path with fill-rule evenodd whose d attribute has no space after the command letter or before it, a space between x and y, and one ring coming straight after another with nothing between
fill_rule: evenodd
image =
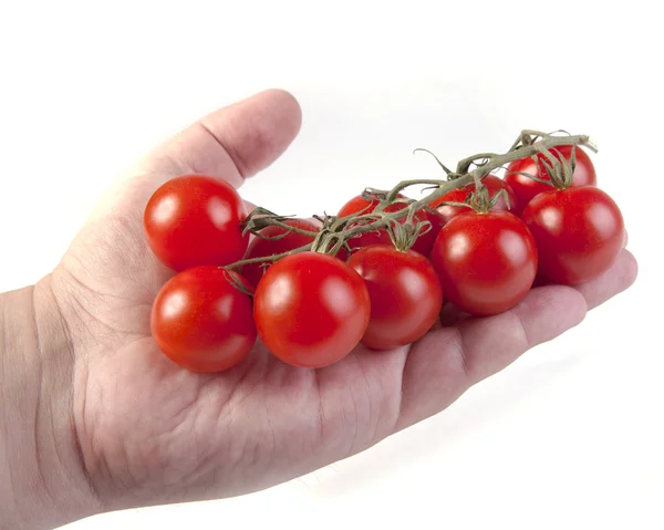
<instances>
[{"instance_id":1,"label":"outstretched fingers under the tomatoes, beyond the palm crease","mask_svg":"<svg viewBox=\"0 0 664 530\"><path fill-rule=\"evenodd\" d=\"M510 311L430 332L408 354L397 429L437 414L527 350L579 324L589 305L625 290L635 274L635 261L623 250L609 273L588 284L540 287Z\"/></svg>"}]
</instances>

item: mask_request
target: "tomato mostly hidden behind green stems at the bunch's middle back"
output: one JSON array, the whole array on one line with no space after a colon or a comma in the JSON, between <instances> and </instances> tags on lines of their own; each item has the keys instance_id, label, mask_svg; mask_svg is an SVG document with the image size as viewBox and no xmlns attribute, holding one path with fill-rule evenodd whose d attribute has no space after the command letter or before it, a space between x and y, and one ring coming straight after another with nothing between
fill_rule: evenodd
<instances>
[{"instance_id":1,"label":"tomato mostly hidden behind green stems at the bunch's middle back","mask_svg":"<svg viewBox=\"0 0 664 530\"><path fill-rule=\"evenodd\" d=\"M401 194L398 197L402 199L405 198L405 196L401 195ZM362 215L371 214L372 211L374 211L376 206L378 206L378 202L380 202L378 200L371 200L371 201L366 200L361 195L359 195L357 197L353 197L344 206L342 206L341 210L339 210L338 216L346 217L346 216L350 216L351 214L356 214L359 211L362 211ZM407 206L408 205L406 205L404 202L395 202L395 204L386 207L385 212L390 214L390 212L398 211L403 208L406 208ZM415 245L413 246L413 250L415 250L416 252L419 252L423 256L428 256L429 252L432 251L432 247L434 245L434 241L436 240L436 236L438 235L436 228L439 228L439 226L440 226L439 222L436 222L436 220L432 219L432 217L429 217L429 216L430 215L427 211L425 211L424 209L417 211L415 214L415 216L413 216L414 224L423 222L423 221L432 222L430 229L428 231L424 232L422 236L419 236L417 238L417 241L415 241ZM400 219L400 221L402 224L405 222L406 216L404 216L402 219ZM355 236L354 238L351 238L347 241L347 243L349 243L349 247L351 248L351 250L371 247L372 245L387 245L391 247L394 246L392 243L392 239L390 238L390 233L387 233L387 231L384 229L361 233L360 236Z\"/></svg>"}]
</instances>

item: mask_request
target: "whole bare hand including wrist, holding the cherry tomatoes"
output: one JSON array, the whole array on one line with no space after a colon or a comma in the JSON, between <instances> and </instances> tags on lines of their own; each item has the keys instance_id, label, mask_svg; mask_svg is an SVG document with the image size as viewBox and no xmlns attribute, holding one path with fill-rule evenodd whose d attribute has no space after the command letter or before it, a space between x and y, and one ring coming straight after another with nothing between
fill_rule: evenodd
<instances>
[{"instance_id":1,"label":"whole bare hand including wrist, holding the cherry tomatoes","mask_svg":"<svg viewBox=\"0 0 664 530\"><path fill-rule=\"evenodd\" d=\"M413 346L357 346L313 371L257 341L227 372L183 371L151 336L152 303L174 273L145 241L145 205L188 173L240 186L279 157L300 119L282 91L203 117L120 180L51 273L0 295L2 530L286 482L438 414L635 280L623 250L595 280L533 289L505 313L459 320Z\"/></svg>"}]
</instances>

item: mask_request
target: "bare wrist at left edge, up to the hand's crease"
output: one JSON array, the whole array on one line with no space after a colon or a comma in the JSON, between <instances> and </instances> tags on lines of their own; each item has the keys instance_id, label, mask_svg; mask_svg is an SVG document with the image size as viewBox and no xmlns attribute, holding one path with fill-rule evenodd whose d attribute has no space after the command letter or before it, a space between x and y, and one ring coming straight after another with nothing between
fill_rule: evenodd
<instances>
[{"instance_id":1,"label":"bare wrist at left edge, up to the hand's crease","mask_svg":"<svg viewBox=\"0 0 664 530\"><path fill-rule=\"evenodd\" d=\"M73 419L74 352L50 282L0 294L0 530L100 510Z\"/></svg>"}]
</instances>

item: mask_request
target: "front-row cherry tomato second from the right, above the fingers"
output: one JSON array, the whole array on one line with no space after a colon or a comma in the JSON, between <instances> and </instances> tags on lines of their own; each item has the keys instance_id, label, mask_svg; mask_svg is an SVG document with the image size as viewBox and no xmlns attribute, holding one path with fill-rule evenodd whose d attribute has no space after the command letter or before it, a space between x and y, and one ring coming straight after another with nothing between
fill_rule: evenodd
<instances>
[{"instance_id":1,"label":"front-row cherry tomato second from the right, above the fingers","mask_svg":"<svg viewBox=\"0 0 664 530\"><path fill-rule=\"evenodd\" d=\"M448 301L488 315L513 308L528 293L537 248L526 225L509 211L470 211L443 227L432 262Z\"/></svg>"}]
</instances>

